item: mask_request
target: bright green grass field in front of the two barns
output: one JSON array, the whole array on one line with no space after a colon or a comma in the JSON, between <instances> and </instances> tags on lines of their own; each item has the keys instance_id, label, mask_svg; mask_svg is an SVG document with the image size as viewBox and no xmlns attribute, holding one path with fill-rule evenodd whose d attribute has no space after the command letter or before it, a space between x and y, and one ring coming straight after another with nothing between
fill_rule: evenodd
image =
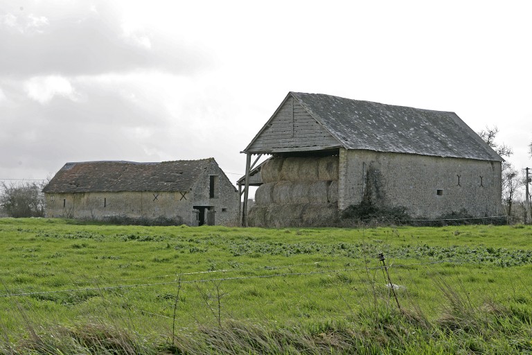
<instances>
[{"instance_id":1,"label":"bright green grass field in front of the two barns","mask_svg":"<svg viewBox=\"0 0 532 355\"><path fill-rule=\"evenodd\" d=\"M3 354L532 352L531 226L3 218L0 245Z\"/></svg>"}]
</instances>

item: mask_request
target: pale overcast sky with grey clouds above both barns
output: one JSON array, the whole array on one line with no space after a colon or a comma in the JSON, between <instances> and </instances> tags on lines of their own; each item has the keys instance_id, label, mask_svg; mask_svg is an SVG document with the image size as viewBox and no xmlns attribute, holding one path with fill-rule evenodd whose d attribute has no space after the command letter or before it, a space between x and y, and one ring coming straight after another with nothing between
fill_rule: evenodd
<instances>
[{"instance_id":1,"label":"pale overcast sky with grey clouds above both barns","mask_svg":"<svg viewBox=\"0 0 532 355\"><path fill-rule=\"evenodd\" d=\"M0 180L240 154L290 91L456 112L532 167L530 1L0 0Z\"/></svg>"}]
</instances>

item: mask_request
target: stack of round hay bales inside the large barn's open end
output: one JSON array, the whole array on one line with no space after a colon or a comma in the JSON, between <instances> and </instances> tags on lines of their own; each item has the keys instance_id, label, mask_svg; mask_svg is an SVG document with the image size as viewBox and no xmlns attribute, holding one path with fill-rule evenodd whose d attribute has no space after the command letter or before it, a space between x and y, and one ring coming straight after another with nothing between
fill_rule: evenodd
<instances>
[{"instance_id":1,"label":"stack of round hay bales inside the large barn's open end","mask_svg":"<svg viewBox=\"0 0 532 355\"><path fill-rule=\"evenodd\" d=\"M338 215L338 157L272 157L260 170L248 223L256 227L332 225Z\"/></svg>"}]
</instances>

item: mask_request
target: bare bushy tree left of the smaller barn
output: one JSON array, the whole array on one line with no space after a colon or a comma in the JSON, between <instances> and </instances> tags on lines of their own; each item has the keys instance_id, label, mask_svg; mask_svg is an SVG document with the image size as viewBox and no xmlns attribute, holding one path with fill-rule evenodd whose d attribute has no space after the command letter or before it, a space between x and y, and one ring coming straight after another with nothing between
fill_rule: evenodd
<instances>
[{"instance_id":1,"label":"bare bushy tree left of the smaller barn","mask_svg":"<svg viewBox=\"0 0 532 355\"><path fill-rule=\"evenodd\" d=\"M10 217L44 216L45 182L0 182L0 206Z\"/></svg>"}]
</instances>

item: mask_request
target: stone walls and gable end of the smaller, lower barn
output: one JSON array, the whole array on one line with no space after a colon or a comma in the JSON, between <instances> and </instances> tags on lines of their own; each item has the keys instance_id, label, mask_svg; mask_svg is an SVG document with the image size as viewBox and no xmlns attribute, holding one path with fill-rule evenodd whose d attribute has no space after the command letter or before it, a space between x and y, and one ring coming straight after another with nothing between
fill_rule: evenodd
<instances>
[{"instance_id":1,"label":"stone walls and gable end of the smaller, lower barn","mask_svg":"<svg viewBox=\"0 0 532 355\"><path fill-rule=\"evenodd\" d=\"M211 175L215 182L211 197ZM121 191L46 193L46 217L101 220L109 217L168 218L193 225L193 207L215 211L215 225L236 225L238 191L215 162L186 193L179 191Z\"/></svg>"}]
</instances>

